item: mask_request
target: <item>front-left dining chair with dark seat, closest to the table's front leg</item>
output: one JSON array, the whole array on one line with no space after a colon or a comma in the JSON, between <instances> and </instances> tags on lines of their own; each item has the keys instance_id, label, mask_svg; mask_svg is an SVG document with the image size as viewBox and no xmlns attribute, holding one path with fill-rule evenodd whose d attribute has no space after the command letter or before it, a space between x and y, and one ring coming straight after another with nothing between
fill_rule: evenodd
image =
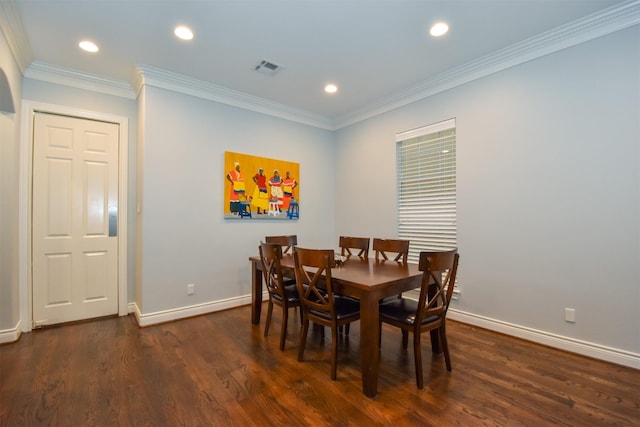
<instances>
[{"instance_id":1,"label":"front-left dining chair with dark seat, closest to the table's front leg","mask_svg":"<svg viewBox=\"0 0 640 427\"><path fill-rule=\"evenodd\" d=\"M331 329L331 379L337 377L338 327L360 319L360 304L334 294L331 269L336 266L333 249L293 251L298 293L302 301L302 331L298 345L298 361L302 361L309 322Z\"/></svg>"}]
</instances>

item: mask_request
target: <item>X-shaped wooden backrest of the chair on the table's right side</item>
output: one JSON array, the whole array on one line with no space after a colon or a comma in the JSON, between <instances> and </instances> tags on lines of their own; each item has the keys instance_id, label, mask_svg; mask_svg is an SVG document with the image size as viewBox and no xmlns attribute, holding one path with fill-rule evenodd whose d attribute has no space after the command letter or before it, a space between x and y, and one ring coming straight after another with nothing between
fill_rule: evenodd
<instances>
[{"instance_id":1,"label":"X-shaped wooden backrest of the chair on the table's right side","mask_svg":"<svg viewBox=\"0 0 640 427\"><path fill-rule=\"evenodd\" d=\"M446 316L456 283L459 259L457 249L446 252L420 252L418 268L423 274L416 325L420 325L422 319L428 317ZM431 293L430 286L435 288Z\"/></svg>"}]
</instances>

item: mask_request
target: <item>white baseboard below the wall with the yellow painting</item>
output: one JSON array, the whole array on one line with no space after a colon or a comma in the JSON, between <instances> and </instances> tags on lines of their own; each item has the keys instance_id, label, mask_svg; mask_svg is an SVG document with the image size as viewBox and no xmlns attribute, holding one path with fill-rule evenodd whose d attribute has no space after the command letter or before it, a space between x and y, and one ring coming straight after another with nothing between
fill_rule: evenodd
<instances>
[{"instance_id":1,"label":"white baseboard below the wall with the yellow painting","mask_svg":"<svg viewBox=\"0 0 640 427\"><path fill-rule=\"evenodd\" d=\"M263 295L263 301L266 301L265 298L269 298L269 294ZM135 303L129 304L129 309L135 314L138 325L144 327L249 304L251 304L251 295L244 295L219 301L211 301L187 307L173 308L170 310L157 311L154 313L140 313L139 307ZM250 319L247 319L247 321L250 321Z\"/></svg>"}]
</instances>

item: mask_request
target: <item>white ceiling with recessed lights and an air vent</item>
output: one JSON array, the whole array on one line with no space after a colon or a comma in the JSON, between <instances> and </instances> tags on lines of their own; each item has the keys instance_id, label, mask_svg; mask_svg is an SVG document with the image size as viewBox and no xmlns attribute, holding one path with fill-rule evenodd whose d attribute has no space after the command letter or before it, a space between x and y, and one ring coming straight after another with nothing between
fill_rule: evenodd
<instances>
[{"instance_id":1,"label":"white ceiling with recessed lights and an air vent","mask_svg":"<svg viewBox=\"0 0 640 427\"><path fill-rule=\"evenodd\" d=\"M149 66L330 120L619 0L0 0L38 64L130 82ZM441 38L429 27L444 20ZM191 27L190 42L173 28ZM78 42L100 47L89 54ZM254 70L267 60L273 75ZM336 94L325 84L338 85Z\"/></svg>"}]
</instances>

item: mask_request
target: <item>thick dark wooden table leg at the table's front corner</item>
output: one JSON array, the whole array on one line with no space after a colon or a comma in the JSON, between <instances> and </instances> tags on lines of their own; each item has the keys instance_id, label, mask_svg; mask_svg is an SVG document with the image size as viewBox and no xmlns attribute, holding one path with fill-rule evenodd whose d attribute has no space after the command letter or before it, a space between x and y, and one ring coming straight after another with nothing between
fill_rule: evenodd
<instances>
[{"instance_id":1,"label":"thick dark wooden table leg at the table's front corner","mask_svg":"<svg viewBox=\"0 0 640 427\"><path fill-rule=\"evenodd\" d=\"M360 364L362 391L368 397L378 393L378 369L380 365L380 335L378 299L371 293L360 297Z\"/></svg>"}]
</instances>

